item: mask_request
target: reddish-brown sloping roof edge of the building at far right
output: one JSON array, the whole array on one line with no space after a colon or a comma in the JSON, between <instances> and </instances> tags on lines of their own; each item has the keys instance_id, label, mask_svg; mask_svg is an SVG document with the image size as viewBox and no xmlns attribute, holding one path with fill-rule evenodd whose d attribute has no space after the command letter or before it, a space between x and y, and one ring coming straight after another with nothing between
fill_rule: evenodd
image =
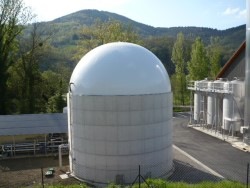
<instances>
[{"instance_id":1,"label":"reddish-brown sloping roof edge of the building at far right","mask_svg":"<svg viewBox=\"0 0 250 188\"><path fill-rule=\"evenodd\" d=\"M246 49L246 41L244 41L240 47L238 48L238 50L233 54L233 56L227 61L227 63L222 67L221 71L218 73L218 75L216 76L216 79L218 78L222 78L223 74L226 72L226 70L229 69L229 67L233 64L233 63L237 63L236 59L237 57L244 52L244 50Z\"/></svg>"}]
</instances>

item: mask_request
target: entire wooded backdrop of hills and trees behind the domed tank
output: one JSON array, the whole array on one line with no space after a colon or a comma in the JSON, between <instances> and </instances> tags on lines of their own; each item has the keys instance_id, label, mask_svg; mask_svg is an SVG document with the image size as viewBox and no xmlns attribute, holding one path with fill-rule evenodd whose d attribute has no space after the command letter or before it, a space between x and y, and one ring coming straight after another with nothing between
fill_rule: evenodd
<instances>
[{"instance_id":1,"label":"entire wooded backdrop of hills and trees behind the domed tank","mask_svg":"<svg viewBox=\"0 0 250 188\"><path fill-rule=\"evenodd\" d=\"M4 15L9 12L12 13L1 13ZM175 104L189 104L190 94L184 91L185 82L179 82L190 77L188 62L196 63L193 67L198 67L199 71L195 72L204 73L201 75L203 78L214 77L245 41L246 35L244 25L227 30L204 27L156 28L97 10L82 10L53 21L28 24L23 32L23 27L15 25L18 21L11 19L12 23L14 26L5 24L4 28L6 26L7 29L2 29L0 33L3 38L12 41L0 40L0 45L4 46L0 54L6 60L2 61L4 66L0 71L3 80L0 82L1 91L5 91L0 92L1 114L61 112L66 105L63 93L68 92L75 65L93 48L114 41L136 43L152 51L171 78ZM19 29L20 35L15 37ZM177 39L181 39L178 42L181 45L176 50ZM184 69L181 73L176 71L176 61L175 64L173 62L173 56L178 56L177 52L180 52L178 54L183 60L181 66ZM196 56L198 58L192 58ZM183 79L179 79L179 76Z\"/></svg>"}]
</instances>

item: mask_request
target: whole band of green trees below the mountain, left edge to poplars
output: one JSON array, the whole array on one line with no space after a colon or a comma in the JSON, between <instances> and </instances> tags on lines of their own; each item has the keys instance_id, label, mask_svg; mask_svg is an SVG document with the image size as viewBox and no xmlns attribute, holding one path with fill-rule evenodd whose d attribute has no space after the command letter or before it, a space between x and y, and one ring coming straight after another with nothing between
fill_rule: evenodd
<instances>
[{"instance_id":1,"label":"whole band of green trees below the mountain, left edge to poplars","mask_svg":"<svg viewBox=\"0 0 250 188\"><path fill-rule=\"evenodd\" d=\"M211 38L207 46L201 38L191 41L182 33L176 39L142 38L130 25L96 20L72 35L72 45L58 50L53 32L42 23L30 24L34 16L22 0L0 0L0 12L0 114L62 112L76 63L109 42L132 42L155 53L171 77L175 104L188 104L189 81L215 78L221 66L218 38Z\"/></svg>"}]
</instances>

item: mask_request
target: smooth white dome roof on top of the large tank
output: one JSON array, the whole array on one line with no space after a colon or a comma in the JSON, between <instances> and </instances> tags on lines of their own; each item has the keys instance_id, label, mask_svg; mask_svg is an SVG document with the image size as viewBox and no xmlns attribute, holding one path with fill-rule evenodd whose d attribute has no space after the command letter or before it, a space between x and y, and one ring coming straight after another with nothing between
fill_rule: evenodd
<instances>
[{"instance_id":1,"label":"smooth white dome roof on top of the large tank","mask_svg":"<svg viewBox=\"0 0 250 188\"><path fill-rule=\"evenodd\" d=\"M115 42L87 53L71 79L75 95L141 95L171 91L161 61L136 44Z\"/></svg>"}]
</instances>

